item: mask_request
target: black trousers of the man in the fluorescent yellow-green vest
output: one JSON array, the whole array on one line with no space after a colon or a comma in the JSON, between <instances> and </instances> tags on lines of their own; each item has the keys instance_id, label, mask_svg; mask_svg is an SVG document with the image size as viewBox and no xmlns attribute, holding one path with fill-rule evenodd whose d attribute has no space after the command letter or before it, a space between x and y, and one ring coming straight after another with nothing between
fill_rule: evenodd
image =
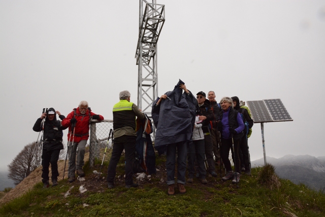
<instances>
[{"instance_id":1,"label":"black trousers of the man in the fluorescent yellow-green vest","mask_svg":"<svg viewBox=\"0 0 325 217\"><path fill-rule=\"evenodd\" d=\"M133 163L134 153L136 151L136 139L135 136L121 136L114 139L112 157L110 164L108 165L107 181L114 183L116 175L116 166L121 158L122 151L125 149L125 184L133 184Z\"/></svg>"}]
</instances>

